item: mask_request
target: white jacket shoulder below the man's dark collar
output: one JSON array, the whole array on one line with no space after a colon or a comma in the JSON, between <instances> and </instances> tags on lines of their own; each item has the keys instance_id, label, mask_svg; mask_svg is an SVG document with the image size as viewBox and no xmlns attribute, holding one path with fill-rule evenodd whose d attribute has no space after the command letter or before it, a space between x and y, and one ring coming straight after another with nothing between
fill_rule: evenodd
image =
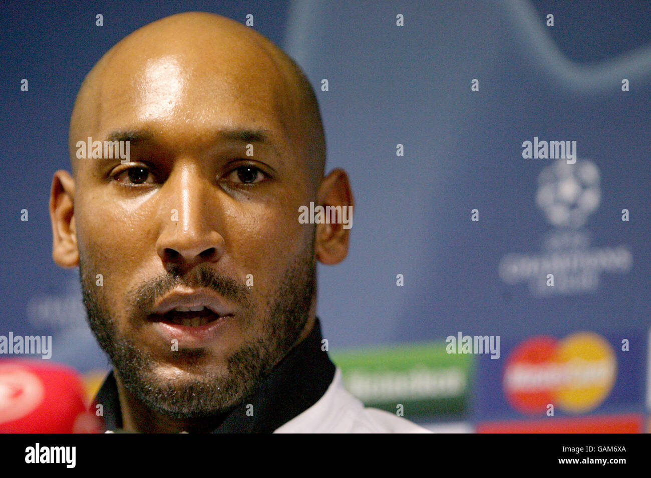
<instances>
[{"instance_id":1,"label":"white jacket shoulder below the man's dark collar","mask_svg":"<svg viewBox=\"0 0 651 478\"><path fill-rule=\"evenodd\" d=\"M431 433L390 412L367 408L344 388L339 367L314 405L274 433Z\"/></svg>"}]
</instances>

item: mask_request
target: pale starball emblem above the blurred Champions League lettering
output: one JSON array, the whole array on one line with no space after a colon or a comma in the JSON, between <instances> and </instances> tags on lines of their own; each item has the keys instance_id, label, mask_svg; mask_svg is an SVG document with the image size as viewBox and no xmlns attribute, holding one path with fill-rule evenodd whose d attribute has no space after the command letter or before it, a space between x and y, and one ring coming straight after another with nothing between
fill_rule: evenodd
<instances>
[{"instance_id":1,"label":"pale starball emblem above the blurred Champions League lettering","mask_svg":"<svg viewBox=\"0 0 651 478\"><path fill-rule=\"evenodd\" d=\"M597 166L587 159L568 165L559 159L538 176L536 204L557 228L581 228L601 200Z\"/></svg>"}]
</instances>

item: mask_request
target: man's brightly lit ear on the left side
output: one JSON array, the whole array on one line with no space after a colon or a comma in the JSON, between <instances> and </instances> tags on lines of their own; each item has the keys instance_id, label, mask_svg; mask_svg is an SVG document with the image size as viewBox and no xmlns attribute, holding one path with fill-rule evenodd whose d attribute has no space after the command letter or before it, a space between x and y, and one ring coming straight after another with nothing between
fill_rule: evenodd
<instances>
[{"instance_id":1,"label":"man's brightly lit ear on the left side","mask_svg":"<svg viewBox=\"0 0 651 478\"><path fill-rule=\"evenodd\" d=\"M52 222L52 258L61 267L79 265L74 215L75 180L59 170L52 178L49 194L49 219Z\"/></svg>"}]
</instances>

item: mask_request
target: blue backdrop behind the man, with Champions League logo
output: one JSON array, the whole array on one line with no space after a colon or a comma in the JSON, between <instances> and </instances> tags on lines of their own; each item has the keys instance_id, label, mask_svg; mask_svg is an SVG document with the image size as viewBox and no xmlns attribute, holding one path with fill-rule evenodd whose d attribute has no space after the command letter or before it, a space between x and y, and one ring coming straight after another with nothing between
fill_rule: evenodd
<instances>
[{"instance_id":1,"label":"blue backdrop behind the man, with Champions League logo","mask_svg":"<svg viewBox=\"0 0 651 478\"><path fill-rule=\"evenodd\" d=\"M188 10L253 14L317 90L327 168L350 173L356 205L348 259L319 269L332 349L458 331L646 337L651 4L620 0L7 3L0 334L51 334L52 360L106 367L78 272L51 259L51 176L69 168L68 121L93 64ZM523 158L534 137L575 141L575 167Z\"/></svg>"}]
</instances>

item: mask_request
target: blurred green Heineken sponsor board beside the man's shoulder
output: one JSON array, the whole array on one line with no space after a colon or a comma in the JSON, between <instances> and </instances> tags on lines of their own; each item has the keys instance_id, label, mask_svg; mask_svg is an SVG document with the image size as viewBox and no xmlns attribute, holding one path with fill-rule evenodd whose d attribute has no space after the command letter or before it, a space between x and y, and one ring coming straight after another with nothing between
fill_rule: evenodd
<instances>
[{"instance_id":1,"label":"blurred green Heineken sponsor board beside the man's shoulder","mask_svg":"<svg viewBox=\"0 0 651 478\"><path fill-rule=\"evenodd\" d=\"M331 352L346 389L367 406L404 416L456 418L468 411L472 354L449 354L445 342Z\"/></svg>"}]
</instances>

